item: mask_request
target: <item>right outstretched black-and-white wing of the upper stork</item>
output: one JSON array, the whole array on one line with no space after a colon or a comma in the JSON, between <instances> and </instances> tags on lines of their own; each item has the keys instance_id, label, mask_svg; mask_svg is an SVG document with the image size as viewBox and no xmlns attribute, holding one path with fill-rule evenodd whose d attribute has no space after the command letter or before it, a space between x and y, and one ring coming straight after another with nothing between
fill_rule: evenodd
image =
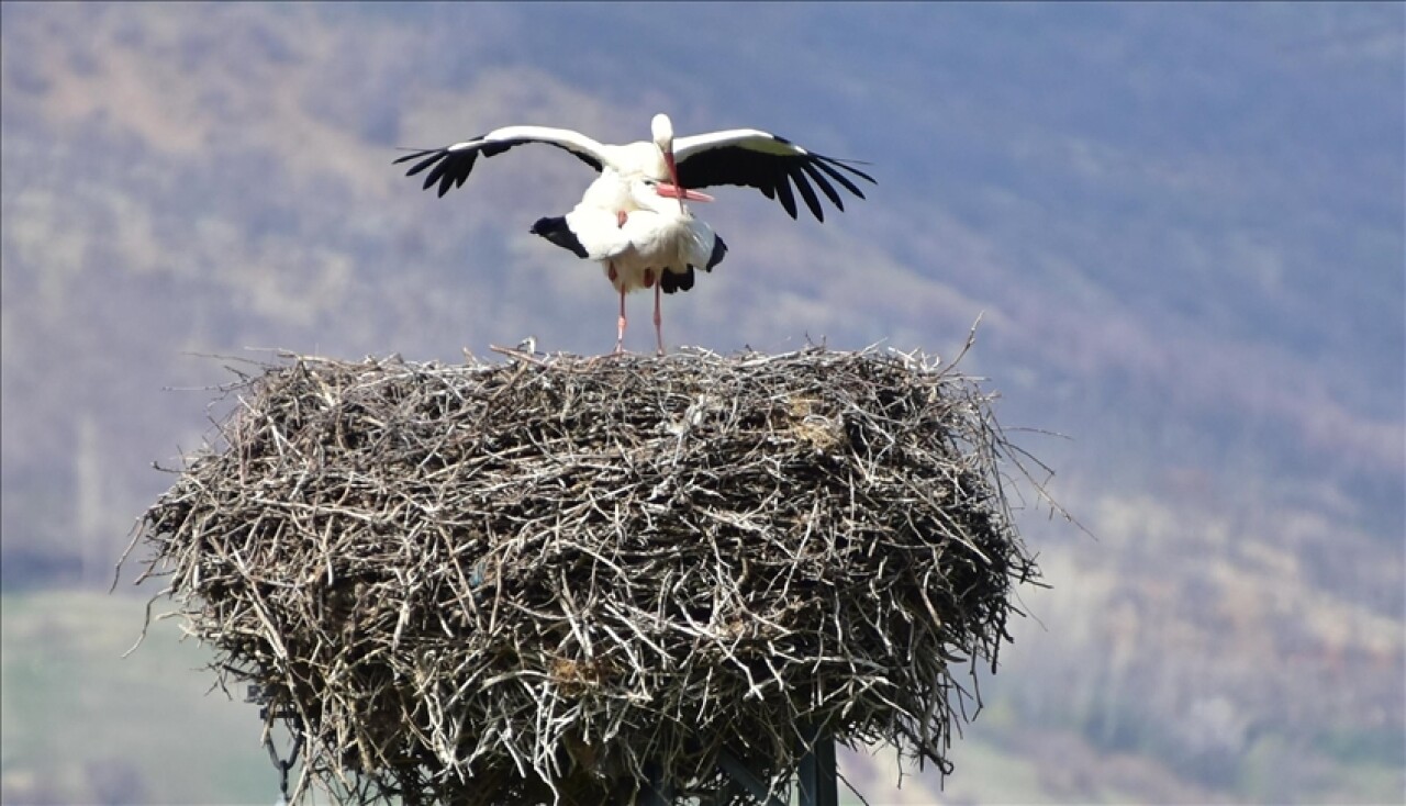
<instances>
[{"instance_id":1,"label":"right outstretched black-and-white wing of the upper stork","mask_svg":"<svg viewBox=\"0 0 1406 806\"><path fill-rule=\"evenodd\" d=\"M796 218L792 184L815 219L824 221L825 212L815 187L844 210L845 204L832 183L859 198L865 194L845 174L875 183L872 176L855 167L856 163L851 160L813 153L783 136L758 129L728 129L678 138L673 141L673 159L683 187L745 184L761 190L766 198L778 198L792 218Z\"/></svg>"}]
</instances>

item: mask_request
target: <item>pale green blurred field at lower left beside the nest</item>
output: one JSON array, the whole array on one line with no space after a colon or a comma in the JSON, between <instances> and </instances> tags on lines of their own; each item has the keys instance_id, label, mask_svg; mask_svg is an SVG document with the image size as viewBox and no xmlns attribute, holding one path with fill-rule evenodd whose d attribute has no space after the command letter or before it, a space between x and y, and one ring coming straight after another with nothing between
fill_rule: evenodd
<instances>
[{"instance_id":1,"label":"pale green blurred field at lower left beside the nest","mask_svg":"<svg viewBox=\"0 0 1406 806\"><path fill-rule=\"evenodd\" d=\"M0 598L0 800L273 803L259 708L209 692L208 655L134 596ZM242 692L236 692L240 693Z\"/></svg>"}]
</instances>

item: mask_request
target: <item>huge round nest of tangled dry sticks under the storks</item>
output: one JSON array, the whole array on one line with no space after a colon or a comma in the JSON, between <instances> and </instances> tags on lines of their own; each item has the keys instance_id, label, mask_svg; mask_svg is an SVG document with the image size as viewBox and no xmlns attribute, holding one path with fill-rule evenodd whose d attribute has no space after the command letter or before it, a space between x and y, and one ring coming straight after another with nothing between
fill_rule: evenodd
<instances>
[{"instance_id":1,"label":"huge round nest of tangled dry sticks under the storks","mask_svg":"<svg viewBox=\"0 0 1406 806\"><path fill-rule=\"evenodd\" d=\"M720 755L783 792L817 733L945 771L1036 574L990 397L931 359L288 359L138 539L299 792L741 803Z\"/></svg>"}]
</instances>

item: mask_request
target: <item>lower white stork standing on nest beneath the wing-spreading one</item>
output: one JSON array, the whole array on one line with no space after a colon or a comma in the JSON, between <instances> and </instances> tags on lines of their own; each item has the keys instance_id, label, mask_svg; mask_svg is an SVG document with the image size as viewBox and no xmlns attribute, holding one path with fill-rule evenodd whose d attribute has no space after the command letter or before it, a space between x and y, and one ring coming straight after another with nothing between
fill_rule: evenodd
<instances>
[{"instance_id":1,"label":"lower white stork standing on nest beneath the wing-spreading one","mask_svg":"<svg viewBox=\"0 0 1406 806\"><path fill-rule=\"evenodd\" d=\"M602 207L605 194L617 187L598 187L619 181L598 179L581 203L567 215L538 218L533 235L541 235L578 257L599 260L606 277L620 293L620 319L616 328L616 352L624 345L624 295L640 288L654 288L654 333L664 354L664 319L659 291L672 294L693 287L693 270L711 271L727 255L727 243L713 228L683 207L683 200L713 201L713 197L683 190L669 183L641 177L623 183L628 197L624 208ZM675 210L665 198L678 198Z\"/></svg>"}]
</instances>

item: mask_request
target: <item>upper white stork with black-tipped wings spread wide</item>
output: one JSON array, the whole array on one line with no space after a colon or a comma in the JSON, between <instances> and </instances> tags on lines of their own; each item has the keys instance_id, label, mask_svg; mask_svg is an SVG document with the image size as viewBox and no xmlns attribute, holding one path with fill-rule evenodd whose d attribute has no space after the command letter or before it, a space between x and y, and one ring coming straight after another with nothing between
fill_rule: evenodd
<instances>
[{"instance_id":1,"label":"upper white stork with black-tipped wings spread wide","mask_svg":"<svg viewBox=\"0 0 1406 806\"><path fill-rule=\"evenodd\" d=\"M621 184L602 186L603 191L627 193L627 183L633 179L668 181L686 188L740 184L776 198L792 218L796 218L796 193L800 193L817 221L825 219L817 188L844 210L835 184L863 198L851 177L873 183L873 177L855 167L856 163L814 153L758 129L675 138L669 117L658 114L651 121L651 134L652 142L607 145L571 129L505 127L444 148L416 151L395 162L415 162L406 176L427 172L423 187L439 186L439 194L444 196L450 187L464 184L479 156L496 156L526 143L546 143L574 153L602 174L619 174Z\"/></svg>"}]
</instances>

